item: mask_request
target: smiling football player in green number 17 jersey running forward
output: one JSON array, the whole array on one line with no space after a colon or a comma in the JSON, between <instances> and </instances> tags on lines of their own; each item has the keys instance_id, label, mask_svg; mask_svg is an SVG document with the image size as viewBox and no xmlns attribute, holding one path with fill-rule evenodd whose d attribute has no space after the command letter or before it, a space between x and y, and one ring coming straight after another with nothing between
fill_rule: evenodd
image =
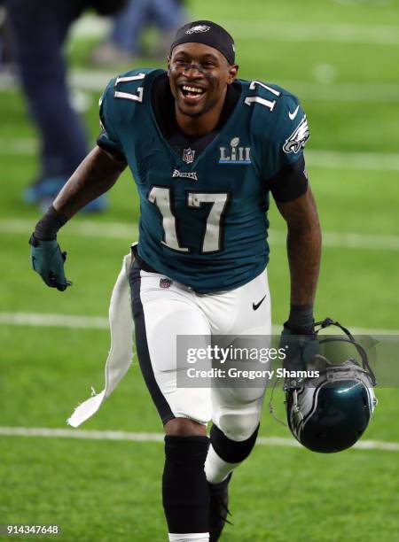
<instances>
[{"instance_id":1,"label":"smiling football player in green number 17 jersey running forward","mask_svg":"<svg viewBox=\"0 0 399 542\"><path fill-rule=\"evenodd\" d=\"M177 385L176 337L270 336L270 193L288 228L285 333L313 330L321 234L303 158L308 121L293 94L238 71L231 35L198 20L178 30L167 71L113 79L96 148L31 238L35 269L65 290L59 228L129 166L141 210L129 271L137 355L166 433L162 501L175 542L219 538L265 387Z\"/></svg>"}]
</instances>

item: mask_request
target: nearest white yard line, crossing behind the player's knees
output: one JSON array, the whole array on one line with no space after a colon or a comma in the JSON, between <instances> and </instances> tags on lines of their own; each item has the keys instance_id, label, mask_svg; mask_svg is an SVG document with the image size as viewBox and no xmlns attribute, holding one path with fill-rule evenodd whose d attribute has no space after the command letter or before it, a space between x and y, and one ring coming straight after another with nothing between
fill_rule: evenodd
<instances>
[{"instance_id":1,"label":"nearest white yard line, crossing behind the player's knees","mask_svg":"<svg viewBox=\"0 0 399 542\"><path fill-rule=\"evenodd\" d=\"M122 442L163 442L162 433L131 433L128 431L98 431L98 430L68 430L27 427L0 427L0 435L4 437L51 437L51 438L81 438L83 440L118 440ZM259 437L257 445L285 446L298 448L301 445L288 437ZM358 450L384 450L399 452L399 443L379 440L363 440L355 446Z\"/></svg>"}]
</instances>

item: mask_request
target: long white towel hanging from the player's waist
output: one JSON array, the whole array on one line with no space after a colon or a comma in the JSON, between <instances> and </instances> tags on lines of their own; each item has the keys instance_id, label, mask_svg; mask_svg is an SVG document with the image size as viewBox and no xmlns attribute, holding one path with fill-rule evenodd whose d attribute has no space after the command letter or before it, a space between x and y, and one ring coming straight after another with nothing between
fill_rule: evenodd
<instances>
[{"instance_id":1,"label":"long white towel hanging from the player's waist","mask_svg":"<svg viewBox=\"0 0 399 542\"><path fill-rule=\"evenodd\" d=\"M111 330L111 349L106 359L106 387L74 409L67 420L72 427L79 427L98 411L107 397L111 395L123 376L126 375L132 360L133 318L129 297L129 267L131 254L123 258L121 273L118 275L109 306L109 326Z\"/></svg>"}]
</instances>

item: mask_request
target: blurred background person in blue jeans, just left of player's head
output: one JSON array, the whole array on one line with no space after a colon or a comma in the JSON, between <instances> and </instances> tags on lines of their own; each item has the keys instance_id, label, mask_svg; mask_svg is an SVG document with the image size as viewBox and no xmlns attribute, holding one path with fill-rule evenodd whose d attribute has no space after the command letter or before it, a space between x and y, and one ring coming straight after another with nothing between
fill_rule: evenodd
<instances>
[{"instance_id":1,"label":"blurred background person in blue jeans, just left of player's head","mask_svg":"<svg viewBox=\"0 0 399 542\"><path fill-rule=\"evenodd\" d=\"M91 54L95 66L122 66L131 64L139 56L164 59L168 45L187 19L184 0L129 0L113 21L111 33ZM155 27L159 38L150 49L143 49L145 30Z\"/></svg>"}]
</instances>

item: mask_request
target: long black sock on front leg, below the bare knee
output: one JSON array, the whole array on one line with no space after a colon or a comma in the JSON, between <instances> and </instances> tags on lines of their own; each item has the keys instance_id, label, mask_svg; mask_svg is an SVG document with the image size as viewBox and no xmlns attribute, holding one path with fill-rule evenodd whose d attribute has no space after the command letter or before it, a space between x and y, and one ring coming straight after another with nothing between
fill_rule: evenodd
<instances>
[{"instance_id":1,"label":"long black sock on front leg, below the bare knee","mask_svg":"<svg viewBox=\"0 0 399 542\"><path fill-rule=\"evenodd\" d=\"M169 532L207 532L209 494L204 464L208 437L165 437L162 501Z\"/></svg>"}]
</instances>

